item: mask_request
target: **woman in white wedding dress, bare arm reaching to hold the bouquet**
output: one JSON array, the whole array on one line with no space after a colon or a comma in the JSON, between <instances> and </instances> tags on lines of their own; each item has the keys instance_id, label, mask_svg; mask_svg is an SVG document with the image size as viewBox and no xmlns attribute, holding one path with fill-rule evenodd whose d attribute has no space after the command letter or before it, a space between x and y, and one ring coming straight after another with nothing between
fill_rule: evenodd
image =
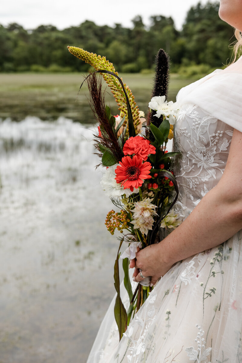
<instances>
[{"instance_id":1,"label":"woman in white wedding dress, bare arm reaching to hold the bouquet","mask_svg":"<svg viewBox=\"0 0 242 363\"><path fill-rule=\"evenodd\" d=\"M242 1L221 0L219 15L242 44ZM133 287L142 276L155 287L120 342L111 303L88 363L242 362L242 58L177 101L183 222L131 260Z\"/></svg>"}]
</instances>

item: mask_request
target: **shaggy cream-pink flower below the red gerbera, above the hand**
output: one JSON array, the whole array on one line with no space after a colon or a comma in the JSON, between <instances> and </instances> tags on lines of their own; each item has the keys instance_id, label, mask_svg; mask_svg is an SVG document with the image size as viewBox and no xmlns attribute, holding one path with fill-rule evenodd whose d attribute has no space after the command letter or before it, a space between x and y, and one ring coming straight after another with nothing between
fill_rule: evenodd
<instances>
[{"instance_id":1,"label":"shaggy cream-pink flower below the red gerbera, above the hand","mask_svg":"<svg viewBox=\"0 0 242 363\"><path fill-rule=\"evenodd\" d=\"M152 204L153 199L145 198L140 202L135 203L133 209L133 218L131 222L134 224L135 229L139 229L142 234L148 234L148 231L152 229L154 223L153 216L157 216L155 211L156 205Z\"/></svg>"}]
</instances>

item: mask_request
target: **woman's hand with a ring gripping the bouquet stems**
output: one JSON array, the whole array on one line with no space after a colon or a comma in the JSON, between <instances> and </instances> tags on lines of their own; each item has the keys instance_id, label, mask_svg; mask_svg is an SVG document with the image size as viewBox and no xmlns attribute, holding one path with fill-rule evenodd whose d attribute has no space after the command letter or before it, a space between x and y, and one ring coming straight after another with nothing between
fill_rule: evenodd
<instances>
[{"instance_id":1,"label":"woman's hand with a ring gripping the bouquet stems","mask_svg":"<svg viewBox=\"0 0 242 363\"><path fill-rule=\"evenodd\" d=\"M134 281L140 282L144 280L140 277L139 269L141 269L143 276L151 276L150 286L155 285L157 280L161 276L164 276L174 264L174 261L166 262L166 258L167 256L165 250L162 249L161 243L156 243L138 250L136 258L130 260L130 268L135 267L133 274Z\"/></svg>"}]
</instances>

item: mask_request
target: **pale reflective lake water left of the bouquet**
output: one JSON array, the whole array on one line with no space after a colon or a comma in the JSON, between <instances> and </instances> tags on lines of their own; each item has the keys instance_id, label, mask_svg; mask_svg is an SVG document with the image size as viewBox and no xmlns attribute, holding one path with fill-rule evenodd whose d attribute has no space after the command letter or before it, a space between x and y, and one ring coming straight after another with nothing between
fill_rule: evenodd
<instances>
[{"instance_id":1,"label":"pale reflective lake water left of the bouquet","mask_svg":"<svg viewBox=\"0 0 242 363\"><path fill-rule=\"evenodd\" d=\"M85 363L114 295L92 134L64 118L0 122L0 363Z\"/></svg>"}]
</instances>

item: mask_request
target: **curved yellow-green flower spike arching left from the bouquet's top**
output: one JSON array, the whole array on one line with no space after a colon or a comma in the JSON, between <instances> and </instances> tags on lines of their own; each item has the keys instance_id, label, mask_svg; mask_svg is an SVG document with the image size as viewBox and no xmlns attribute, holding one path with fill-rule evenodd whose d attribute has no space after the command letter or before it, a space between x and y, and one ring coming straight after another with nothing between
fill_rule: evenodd
<instances>
[{"instance_id":1,"label":"curved yellow-green flower spike arching left from the bouquet's top","mask_svg":"<svg viewBox=\"0 0 242 363\"><path fill-rule=\"evenodd\" d=\"M118 76L118 72L115 72L114 66L112 65L112 63L106 60L106 57L97 56L97 54L89 53L86 50L83 50L82 48L77 48L75 46L68 46L67 48L71 54L81 59L82 61L85 61L86 63L90 64L96 70L105 69L115 73ZM120 85L118 79L116 79L114 76L104 73L102 73L102 76L103 79L106 81L107 85L111 88L111 92L114 95L116 102L118 103L120 110L120 117L123 118L123 116L125 115L125 122L124 122L124 127L125 127L128 120L128 110L127 110L126 97L122 89L122 86ZM131 112L134 120L134 127L135 131L137 131L138 125L140 123L139 108L138 106L136 106L134 95L132 94L131 89L128 86L126 86L126 83L124 83L124 88L126 90L128 99L130 101Z\"/></svg>"}]
</instances>

